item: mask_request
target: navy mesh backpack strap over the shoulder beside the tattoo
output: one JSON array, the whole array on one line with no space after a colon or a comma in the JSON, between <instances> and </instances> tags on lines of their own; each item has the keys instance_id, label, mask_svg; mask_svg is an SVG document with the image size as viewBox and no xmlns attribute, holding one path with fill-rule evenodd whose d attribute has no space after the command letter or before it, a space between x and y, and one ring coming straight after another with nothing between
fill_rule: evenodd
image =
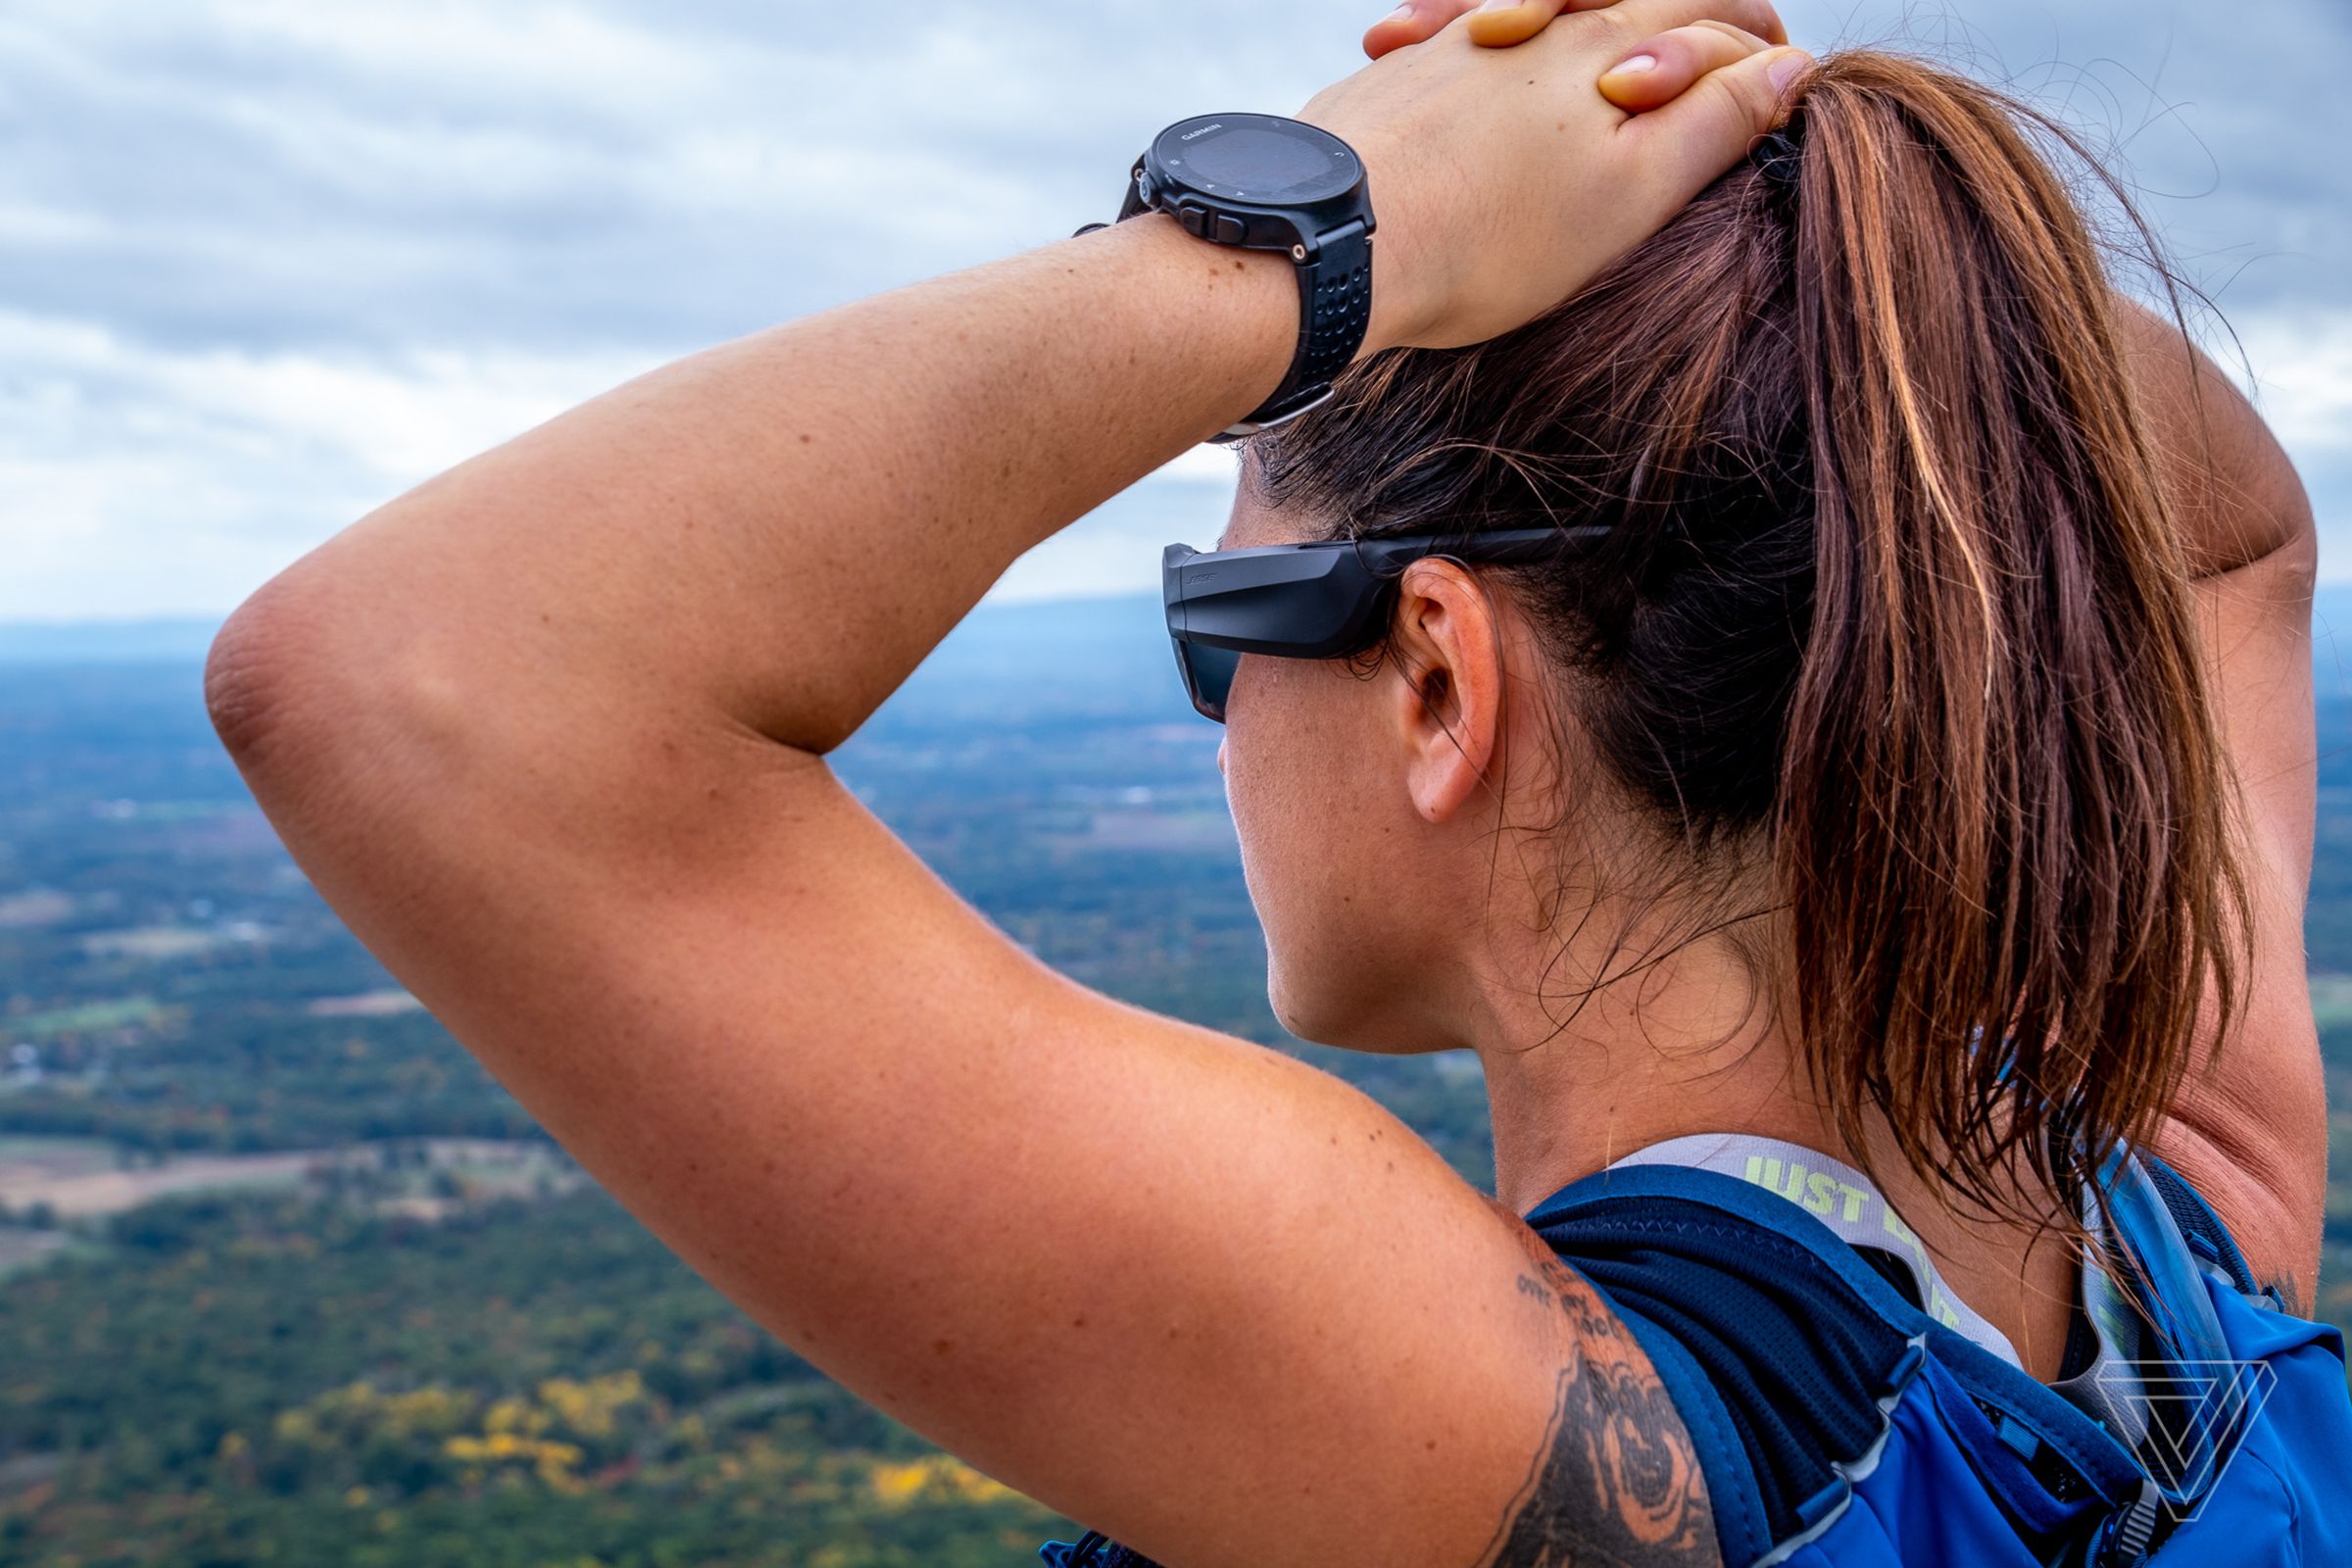
<instances>
[{"instance_id":1,"label":"navy mesh backpack strap over the shoulder beside the tattoo","mask_svg":"<svg viewBox=\"0 0 2352 1568\"><path fill-rule=\"evenodd\" d=\"M1597 1171L1526 1222L1658 1368L1717 1505L1726 1563L1780 1561L1849 1507L1929 1359L1940 1387L1973 1401L1957 1439L1983 1448L1987 1490L2020 1535L2096 1523L2143 1497L2138 1465L2098 1422L1915 1307L1820 1220L1736 1175ZM2072 1507L2051 1502L2056 1472Z\"/></svg>"}]
</instances>

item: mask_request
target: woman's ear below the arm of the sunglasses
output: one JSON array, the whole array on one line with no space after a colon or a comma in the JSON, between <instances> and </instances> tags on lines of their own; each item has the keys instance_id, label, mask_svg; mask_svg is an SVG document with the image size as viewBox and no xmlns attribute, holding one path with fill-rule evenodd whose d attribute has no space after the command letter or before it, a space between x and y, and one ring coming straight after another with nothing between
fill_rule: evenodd
<instances>
[{"instance_id":1,"label":"woman's ear below the arm of the sunglasses","mask_svg":"<svg viewBox=\"0 0 2352 1568\"><path fill-rule=\"evenodd\" d=\"M1498 607L1456 562L1404 569L1390 632L1388 710L1404 745L1414 811L1454 818L1475 795L1501 790L1491 766L1503 743L1503 628Z\"/></svg>"}]
</instances>

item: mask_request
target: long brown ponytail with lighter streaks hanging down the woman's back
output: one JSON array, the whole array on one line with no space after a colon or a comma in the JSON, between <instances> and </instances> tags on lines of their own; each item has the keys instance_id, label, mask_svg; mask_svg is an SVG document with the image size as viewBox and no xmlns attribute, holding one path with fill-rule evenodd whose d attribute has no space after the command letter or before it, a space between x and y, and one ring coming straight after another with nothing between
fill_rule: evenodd
<instances>
[{"instance_id":1,"label":"long brown ponytail with lighter streaks hanging down the woman's back","mask_svg":"<svg viewBox=\"0 0 2352 1568\"><path fill-rule=\"evenodd\" d=\"M2013 1152L2065 1185L2046 1133L2145 1135L2237 992L2187 564L2098 249L2018 127L2063 132L1879 54L1797 113L1802 1039L1849 1138L1877 1105L1964 1190Z\"/></svg>"}]
</instances>

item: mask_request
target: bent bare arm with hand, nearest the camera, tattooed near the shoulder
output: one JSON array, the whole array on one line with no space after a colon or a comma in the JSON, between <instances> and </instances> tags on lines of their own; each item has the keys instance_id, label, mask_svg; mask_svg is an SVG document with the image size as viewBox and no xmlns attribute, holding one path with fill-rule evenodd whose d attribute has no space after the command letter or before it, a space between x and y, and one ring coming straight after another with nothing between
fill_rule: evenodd
<instances>
[{"instance_id":1,"label":"bent bare arm with hand, nearest the camera, tattooed near the shoulder","mask_svg":"<svg viewBox=\"0 0 2352 1568\"><path fill-rule=\"evenodd\" d=\"M1639 122L1590 85L1752 0L1625 9L1308 106L1371 169L1367 350L1534 317L1745 150L1762 56ZM1463 190L1550 134L1548 200ZM1296 322L1284 261L1145 216L713 348L296 562L223 630L216 719L583 1166L985 1472L1188 1566L1712 1561L1663 1399L1588 1441L1588 1366L1656 1380L1571 1274L1519 1288L1524 1225L1338 1079L1040 966L826 766L1016 555L1272 390Z\"/></svg>"}]
</instances>

